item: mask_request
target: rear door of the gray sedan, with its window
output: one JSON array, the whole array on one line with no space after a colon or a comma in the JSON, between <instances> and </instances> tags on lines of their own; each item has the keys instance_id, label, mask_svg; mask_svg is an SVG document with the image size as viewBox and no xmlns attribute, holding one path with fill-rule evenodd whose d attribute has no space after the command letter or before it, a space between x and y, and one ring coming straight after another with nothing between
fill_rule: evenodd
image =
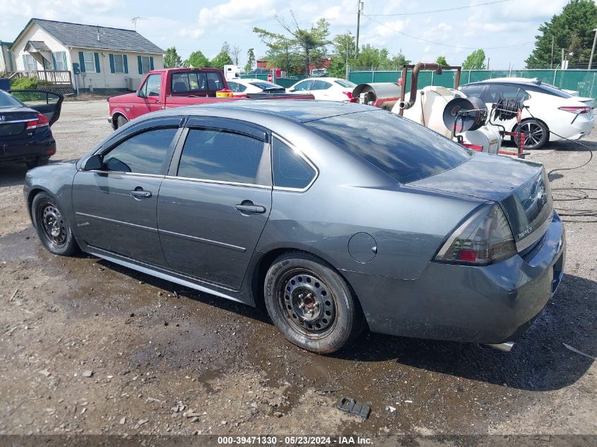
<instances>
[{"instance_id":1,"label":"rear door of the gray sedan, with its window","mask_svg":"<svg viewBox=\"0 0 597 447\"><path fill-rule=\"evenodd\" d=\"M168 266L238 290L271 210L269 135L244 121L191 117L158 197Z\"/></svg>"}]
</instances>

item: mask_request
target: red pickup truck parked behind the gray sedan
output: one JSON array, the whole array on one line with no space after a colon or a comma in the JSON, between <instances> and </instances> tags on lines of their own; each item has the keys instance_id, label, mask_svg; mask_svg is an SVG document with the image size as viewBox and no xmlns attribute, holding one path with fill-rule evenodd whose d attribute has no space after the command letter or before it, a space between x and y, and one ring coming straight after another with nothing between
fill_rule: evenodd
<instances>
[{"instance_id":1,"label":"red pickup truck parked behind the gray sedan","mask_svg":"<svg viewBox=\"0 0 597 447\"><path fill-rule=\"evenodd\" d=\"M247 97L216 97L229 90L224 72L219 68L163 68L147 73L136 93L108 98L108 122L118 129L131 119L170 107L207 104L220 101L247 101L254 98L312 100L313 95L256 93Z\"/></svg>"}]
</instances>

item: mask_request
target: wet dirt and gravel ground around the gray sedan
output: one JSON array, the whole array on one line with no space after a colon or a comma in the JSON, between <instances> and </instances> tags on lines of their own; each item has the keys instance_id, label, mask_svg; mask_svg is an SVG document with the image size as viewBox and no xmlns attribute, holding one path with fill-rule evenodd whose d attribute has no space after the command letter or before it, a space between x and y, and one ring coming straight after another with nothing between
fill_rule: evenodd
<instances>
[{"instance_id":1,"label":"wet dirt and gravel ground around the gray sedan","mask_svg":"<svg viewBox=\"0 0 597 447\"><path fill-rule=\"evenodd\" d=\"M107 136L106 117L105 101L64 103L52 160ZM529 158L555 169L589 152L550 143ZM365 333L321 357L264 311L52 256L25 209L25 171L0 166L0 434L597 434L597 367L564 346L597 356L596 222L567 222L565 278L512 352ZM551 177L553 189L597 188L597 156ZM370 404L370 418L336 409L341 396Z\"/></svg>"}]
</instances>

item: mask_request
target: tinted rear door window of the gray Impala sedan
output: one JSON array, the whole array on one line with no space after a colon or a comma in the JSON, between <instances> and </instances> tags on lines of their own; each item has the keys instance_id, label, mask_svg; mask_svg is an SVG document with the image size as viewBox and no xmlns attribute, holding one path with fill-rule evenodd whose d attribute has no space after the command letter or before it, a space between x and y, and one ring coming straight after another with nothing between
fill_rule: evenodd
<instances>
[{"instance_id":1,"label":"tinted rear door window of the gray Impala sedan","mask_svg":"<svg viewBox=\"0 0 597 447\"><path fill-rule=\"evenodd\" d=\"M264 143L220 129L190 129L182 148L178 177L265 184L270 174ZM270 177L271 178L271 177ZM270 180L271 183L271 180Z\"/></svg>"}]
</instances>

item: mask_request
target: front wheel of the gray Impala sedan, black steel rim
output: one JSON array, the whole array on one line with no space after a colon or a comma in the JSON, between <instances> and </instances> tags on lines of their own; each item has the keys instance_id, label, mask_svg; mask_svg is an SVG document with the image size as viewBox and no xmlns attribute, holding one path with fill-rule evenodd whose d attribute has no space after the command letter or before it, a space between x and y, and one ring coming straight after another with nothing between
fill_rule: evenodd
<instances>
[{"instance_id":1,"label":"front wheel of the gray Impala sedan, black steel rim","mask_svg":"<svg viewBox=\"0 0 597 447\"><path fill-rule=\"evenodd\" d=\"M38 193L31 204L33 226L47 251L59 256L71 256L78 245L56 200L47 193Z\"/></svg>"}]
</instances>

